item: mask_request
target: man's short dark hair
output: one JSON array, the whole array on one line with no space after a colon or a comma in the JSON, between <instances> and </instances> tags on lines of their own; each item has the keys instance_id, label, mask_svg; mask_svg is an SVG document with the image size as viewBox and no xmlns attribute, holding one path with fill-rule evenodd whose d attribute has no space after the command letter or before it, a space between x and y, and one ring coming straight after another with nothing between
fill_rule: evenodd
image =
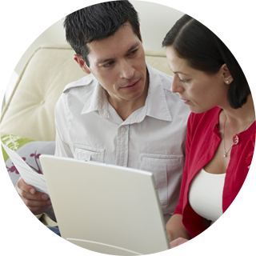
<instances>
[{"instance_id":1,"label":"man's short dark hair","mask_svg":"<svg viewBox=\"0 0 256 256\"><path fill-rule=\"evenodd\" d=\"M90 66L86 44L113 35L126 22L142 41L138 13L127 0L76 0L66 10L63 25L66 41Z\"/></svg>"}]
</instances>

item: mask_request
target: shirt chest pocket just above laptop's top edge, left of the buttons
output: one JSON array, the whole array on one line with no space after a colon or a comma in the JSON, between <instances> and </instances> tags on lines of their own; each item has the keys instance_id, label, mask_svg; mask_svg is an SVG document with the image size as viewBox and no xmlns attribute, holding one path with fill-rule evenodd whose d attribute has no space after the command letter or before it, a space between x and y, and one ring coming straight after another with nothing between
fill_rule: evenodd
<instances>
[{"instance_id":1,"label":"shirt chest pocket just above laptop's top edge, left of the buttons","mask_svg":"<svg viewBox=\"0 0 256 256\"><path fill-rule=\"evenodd\" d=\"M91 146L74 145L74 158L85 161L104 162L105 150Z\"/></svg>"}]
</instances>

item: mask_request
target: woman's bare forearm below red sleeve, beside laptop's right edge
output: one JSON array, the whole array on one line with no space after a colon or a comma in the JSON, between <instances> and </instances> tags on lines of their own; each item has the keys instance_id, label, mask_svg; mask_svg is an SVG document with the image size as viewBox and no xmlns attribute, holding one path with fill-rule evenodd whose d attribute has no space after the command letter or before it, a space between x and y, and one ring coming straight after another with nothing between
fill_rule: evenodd
<instances>
[{"instance_id":1,"label":"woman's bare forearm below red sleeve, beside laptop's right edge","mask_svg":"<svg viewBox=\"0 0 256 256\"><path fill-rule=\"evenodd\" d=\"M174 214L170 218L170 220L166 223L166 231L170 242L176 238L186 238L192 240L190 234L182 224L181 214Z\"/></svg>"}]
</instances>

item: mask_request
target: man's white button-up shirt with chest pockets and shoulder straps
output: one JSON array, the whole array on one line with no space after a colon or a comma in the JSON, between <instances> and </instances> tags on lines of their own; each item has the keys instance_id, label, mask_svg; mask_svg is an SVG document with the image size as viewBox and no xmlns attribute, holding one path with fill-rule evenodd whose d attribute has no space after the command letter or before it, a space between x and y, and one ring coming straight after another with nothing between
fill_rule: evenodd
<instances>
[{"instance_id":1,"label":"man's white button-up shirt with chest pockets and shoulder straps","mask_svg":"<svg viewBox=\"0 0 256 256\"><path fill-rule=\"evenodd\" d=\"M178 202L189 108L170 91L172 77L147 66L145 106L125 121L92 74L66 86L55 107L58 156L106 162L154 174L163 214Z\"/></svg>"}]
</instances>

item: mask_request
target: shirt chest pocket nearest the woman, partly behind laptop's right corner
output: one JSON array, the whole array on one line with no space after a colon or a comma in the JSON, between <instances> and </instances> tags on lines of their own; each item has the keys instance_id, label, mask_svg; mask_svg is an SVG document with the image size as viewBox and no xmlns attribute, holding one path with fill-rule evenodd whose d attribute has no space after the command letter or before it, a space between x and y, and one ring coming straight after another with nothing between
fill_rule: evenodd
<instances>
[{"instance_id":1,"label":"shirt chest pocket nearest the woman, partly behind laptop's right corner","mask_svg":"<svg viewBox=\"0 0 256 256\"><path fill-rule=\"evenodd\" d=\"M140 170L154 174L158 196L162 206L170 199L170 191L180 183L184 164L183 155L140 154Z\"/></svg>"}]
</instances>

